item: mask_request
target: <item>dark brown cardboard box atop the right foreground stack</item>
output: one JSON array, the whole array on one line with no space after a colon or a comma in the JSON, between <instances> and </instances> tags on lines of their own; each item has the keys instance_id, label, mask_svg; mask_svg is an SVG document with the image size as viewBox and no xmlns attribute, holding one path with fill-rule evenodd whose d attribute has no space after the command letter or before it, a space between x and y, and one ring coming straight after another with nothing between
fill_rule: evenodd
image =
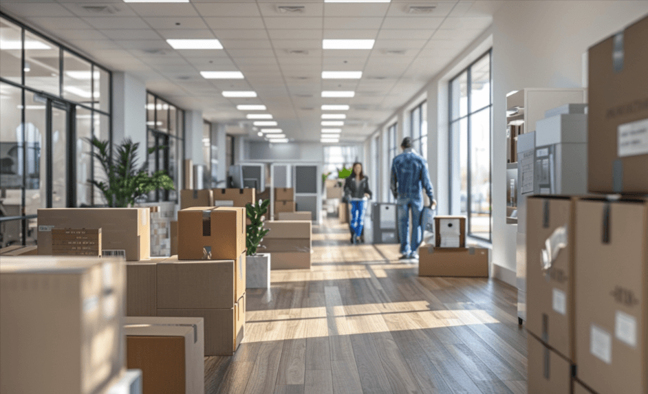
<instances>
[{"instance_id":1,"label":"dark brown cardboard box atop the right foreground stack","mask_svg":"<svg viewBox=\"0 0 648 394\"><path fill-rule=\"evenodd\" d=\"M648 193L647 42L645 17L590 47L590 192Z\"/></svg>"}]
</instances>

